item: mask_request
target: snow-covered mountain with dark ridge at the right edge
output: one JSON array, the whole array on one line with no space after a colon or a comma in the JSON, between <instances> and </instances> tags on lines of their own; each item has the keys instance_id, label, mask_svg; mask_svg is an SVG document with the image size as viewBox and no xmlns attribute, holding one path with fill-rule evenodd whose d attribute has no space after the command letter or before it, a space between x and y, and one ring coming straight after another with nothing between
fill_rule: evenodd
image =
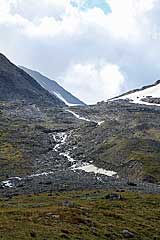
<instances>
[{"instance_id":1,"label":"snow-covered mountain with dark ridge at the right edge","mask_svg":"<svg viewBox=\"0 0 160 240\"><path fill-rule=\"evenodd\" d=\"M141 89L129 91L112 100L130 100L137 104L160 106L160 80L153 85L144 86Z\"/></svg>"}]
</instances>

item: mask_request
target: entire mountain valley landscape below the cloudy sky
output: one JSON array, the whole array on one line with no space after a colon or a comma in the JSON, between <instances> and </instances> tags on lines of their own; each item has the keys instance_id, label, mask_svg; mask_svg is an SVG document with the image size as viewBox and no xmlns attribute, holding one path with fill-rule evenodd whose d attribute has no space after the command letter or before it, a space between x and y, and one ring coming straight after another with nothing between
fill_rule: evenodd
<instances>
[{"instance_id":1,"label":"entire mountain valley landscape below the cloudy sky","mask_svg":"<svg viewBox=\"0 0 160 240\"><path fill-rule=\"evenodd\" d=\"M0 238L159 240L159 82L86 105L0 61Z\"/></svg>"}]
</instances>

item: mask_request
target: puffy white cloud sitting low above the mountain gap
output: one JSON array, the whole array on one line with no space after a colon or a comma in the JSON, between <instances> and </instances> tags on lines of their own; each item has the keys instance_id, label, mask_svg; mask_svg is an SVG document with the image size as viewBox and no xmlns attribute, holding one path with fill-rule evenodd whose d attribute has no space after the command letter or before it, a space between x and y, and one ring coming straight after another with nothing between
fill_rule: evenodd
<instances>
[{"instance_id":1,"label":"puffy white cloud sitting low above the mountain gap","mask_svg":"<svg viewBox=\"0 0 160 240\"><path fill-rule=\"evenodd\" d=\"M90 104L118 95L124 83L119 67L112 64L76 64L63 79L66 88Z\"/></svg>"}]
</instances>

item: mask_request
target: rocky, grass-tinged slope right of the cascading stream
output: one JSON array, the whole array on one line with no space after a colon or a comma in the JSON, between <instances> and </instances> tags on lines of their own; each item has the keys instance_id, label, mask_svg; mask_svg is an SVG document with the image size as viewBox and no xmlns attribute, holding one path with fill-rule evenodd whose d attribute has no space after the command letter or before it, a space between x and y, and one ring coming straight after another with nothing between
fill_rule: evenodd
<instances>
[{"instance_id":1,"label":"rocky, grass-tinged slope right of the cascading stream","mask_svg":"<svg viewBox=\"0 0 160 240\"><path fill-rule=\"evenodd\" d=\"M74 109L92 120L72 132L73 158L117 172L120 178L160 181L160 108L125 101ZM96 124L101 116L101 124ZM100 119L99 119L100 120Z\"/></svg>"}]
</instances>

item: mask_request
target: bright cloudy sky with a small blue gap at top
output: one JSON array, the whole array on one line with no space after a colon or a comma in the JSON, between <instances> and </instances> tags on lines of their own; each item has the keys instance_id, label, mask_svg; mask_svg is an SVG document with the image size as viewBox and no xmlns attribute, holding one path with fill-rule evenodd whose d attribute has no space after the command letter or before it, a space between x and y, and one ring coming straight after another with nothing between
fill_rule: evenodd
<instances>
[{"instance_id":1,"label":"bright cloudy sky with a small blue gap at top","mask_svg":"<svg viewBox=\"0 0 160 240\"><path fill-rule=\"evenodd\" d=\"M160 0L0 0L0 52L88 104L160 79Z\"/></svg>"}]
</instances>

